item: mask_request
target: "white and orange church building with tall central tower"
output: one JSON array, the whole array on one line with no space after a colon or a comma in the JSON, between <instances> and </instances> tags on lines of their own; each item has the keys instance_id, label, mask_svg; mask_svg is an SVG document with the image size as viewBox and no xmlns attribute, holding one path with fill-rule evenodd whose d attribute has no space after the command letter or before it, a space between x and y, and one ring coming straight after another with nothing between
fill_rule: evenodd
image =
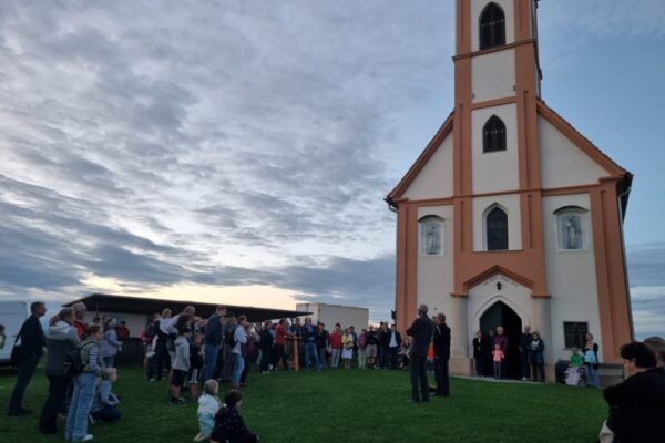
<instances>
[{"instance_id":1,"label":"white and orange church building with tall central tower","mask_svg":"<svg viewBox=\"0 0 665 443\"><path fill-rule=\"evenodd\" d=\"M587 332L620 362L632 318L623 219L632 175L541 97L538 0L457 0L454 109L388 195L396 320L427 303L452 331L451 373L502 324L509 373L531 326L549 365ZM550 367L551 368L551 367Z\"/></svg>"}]
</instances>

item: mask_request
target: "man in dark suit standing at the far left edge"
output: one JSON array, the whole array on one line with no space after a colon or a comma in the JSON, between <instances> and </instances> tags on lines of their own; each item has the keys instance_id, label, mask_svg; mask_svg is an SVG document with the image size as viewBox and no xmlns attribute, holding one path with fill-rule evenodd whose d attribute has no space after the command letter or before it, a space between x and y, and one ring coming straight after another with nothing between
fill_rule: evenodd
<instances>
[{"instance_id":1,"label":"man in dark suit standing at the far left edge","mask_svg":"<svg viewBox=\"0 0 665 443\"><path fill-rule=\"evenodd\" d=\"M34 368L37 368L39 358L44 352L43 348L47 344L44 331L39 322L39 318L47 313L47 307L41 301L34 301L30 305L30 312L31 316L23 322L19 331L21 343L18 362L19 377L11 393L8 415L24 415L31 412L21 405L23 392L25 392L30 379L32 379Z\"/></svg>"}]
</instances>

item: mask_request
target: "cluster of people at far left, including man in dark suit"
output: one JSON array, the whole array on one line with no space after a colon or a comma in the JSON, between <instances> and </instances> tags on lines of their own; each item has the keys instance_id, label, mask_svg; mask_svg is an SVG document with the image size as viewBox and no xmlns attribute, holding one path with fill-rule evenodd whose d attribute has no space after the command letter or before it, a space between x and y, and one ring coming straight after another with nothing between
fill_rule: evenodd
<instances>
[{"instance_id":1,"label":"cluster of people at far left, including man in dark suit","mask_svg":"<svg viewBox=\"0 0 665 443\"><path fill-rule=\"evenodd\" d=\"M93 436L88 433L89 422L115 421L121 416L120 399L112 392L117 372L111 364L105 367L102 357L105 330L101 324L85 323L83 303L61 309L49 320L45 334L40 323L47 313L45 305L35 301L14 343L18 378L8 414L31 413L22 405L23 393L45 348L49 394L40 414L39 430L44 434L58 432L58 415L66 413L65 439L90 441ZM115 326L110 324L106 331Z\"/></svg>"}]
</instances>

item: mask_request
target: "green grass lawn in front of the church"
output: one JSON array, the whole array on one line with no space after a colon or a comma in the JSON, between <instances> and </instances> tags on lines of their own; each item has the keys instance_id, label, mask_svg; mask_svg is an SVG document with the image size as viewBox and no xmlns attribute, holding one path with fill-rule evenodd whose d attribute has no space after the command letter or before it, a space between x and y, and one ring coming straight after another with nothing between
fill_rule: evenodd
<instances>
[{"instance_id":1,"label":"green grass lawn in front of the church","mask_svg":"<svg viewBox=\"0 0 665 443\"><path fill-rule=\"evenodd\" d=\"M37 430L48 389L39 370L24 400L33 413L6 415L13 381L0 375L0 442L63 441L63 432L44 436ZM165 383L121 369L115 392L123 419L90 426L94 441L191 442L198 432L196 405L171 405ZM600 391L560 384L452 378L450 398L409 404L406 372L253 372L248 383L241 413L262 442L595 442L606 415Z\"/></svg>"}]
</instances>

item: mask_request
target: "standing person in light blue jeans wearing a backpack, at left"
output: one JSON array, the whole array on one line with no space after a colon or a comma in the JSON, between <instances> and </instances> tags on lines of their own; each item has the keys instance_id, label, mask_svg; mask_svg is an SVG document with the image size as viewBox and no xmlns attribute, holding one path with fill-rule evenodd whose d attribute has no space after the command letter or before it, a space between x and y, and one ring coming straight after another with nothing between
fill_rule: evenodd
<instances>
[{"instance_id":1,"label":"standing person in light blue jeans wearing a backpack, at left","mask_svg":"<svg viewBox=\"0 0 665 443\"><path fill-rule=\"evenodd\" d=\"M103 336L104 330L100 324L92 324L88 328L88 338L79 347L76 356L83 368L81 369L81 373L74 378L74 393L64 427L65 440L88 442L93 439L88 433L88 415L90 415L94 400L98 378L102 373L100 347Z\"/></svg>"}]
</instances>

